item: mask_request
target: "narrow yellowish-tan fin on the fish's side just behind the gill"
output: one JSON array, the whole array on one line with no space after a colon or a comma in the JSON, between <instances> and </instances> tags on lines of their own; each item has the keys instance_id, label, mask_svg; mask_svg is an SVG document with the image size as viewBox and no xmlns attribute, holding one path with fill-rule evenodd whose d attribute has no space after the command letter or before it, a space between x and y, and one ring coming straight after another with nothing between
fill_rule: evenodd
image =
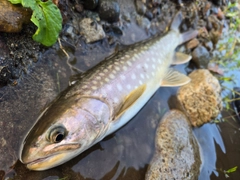
<instances>
[{"instance_id":1,"label":"narrow yellowish-tan fin on the fish's side just behind the gill","mask_svg":"<svg viewBox=\"0 0 240 180\"><path fill-rule=\"evenodd\" d=\"M128 110L141 97L145 89L146 85L144 84L130 92L130 94L125 97L123 104L114 119L118 119L119 116L121 116L126 110Z\"/></svg>"}]
</instances>

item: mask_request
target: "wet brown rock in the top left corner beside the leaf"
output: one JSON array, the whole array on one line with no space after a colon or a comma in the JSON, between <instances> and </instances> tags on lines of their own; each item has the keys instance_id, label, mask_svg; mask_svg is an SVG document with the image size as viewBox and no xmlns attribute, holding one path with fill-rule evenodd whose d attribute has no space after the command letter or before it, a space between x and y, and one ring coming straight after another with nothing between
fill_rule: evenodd
<instances>
[{"instance_id":1,"label":"wet brown rock in the top left corner beside the leaf","mask_svg":"<svg viewBox=\"0 0 240 180\"><path fill-rule=\"evenodd\" d=\"M0 32L15 33L30 22L32 11L13 5L8 0L0 1Z\"/></svg>"}]
</instances>

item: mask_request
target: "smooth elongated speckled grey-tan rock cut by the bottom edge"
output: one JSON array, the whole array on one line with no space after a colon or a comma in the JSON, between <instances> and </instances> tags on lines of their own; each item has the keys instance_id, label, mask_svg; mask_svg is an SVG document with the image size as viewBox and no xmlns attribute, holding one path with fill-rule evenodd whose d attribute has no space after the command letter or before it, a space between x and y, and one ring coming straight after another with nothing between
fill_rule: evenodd
<instances>
[{"instance_id":1,"label":"smooth elongated speckled grey-tan rock cut by the bottom edge","mask_svg":"<svg viewBox=\"0 0 240 180\"><path fill-rule=\"evenodd\" d=\"M199 146L181 111L171 110L164 115L156 131L155 148L146 180L198 179Z\"/></svg>"}]
</instances>

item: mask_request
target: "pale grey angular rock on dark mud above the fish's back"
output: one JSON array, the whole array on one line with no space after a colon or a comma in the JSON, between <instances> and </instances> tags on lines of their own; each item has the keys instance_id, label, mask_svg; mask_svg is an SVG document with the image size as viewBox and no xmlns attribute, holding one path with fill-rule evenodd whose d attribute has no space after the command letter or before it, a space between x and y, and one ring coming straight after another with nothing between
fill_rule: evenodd
<instances>
[{"instance_id":1,"label":"pale grey angular rock on dark mud above the fish's back","mask_svg":"<svg viewBox=\"0 0 240 180\"><path fill-rule=\"evenodd\" d=\"M105 38L106 34L101 25L91 18L84 18L80 21L81 33L86 39L86 43L92 43Z\"/></svg>"}]
</instances>

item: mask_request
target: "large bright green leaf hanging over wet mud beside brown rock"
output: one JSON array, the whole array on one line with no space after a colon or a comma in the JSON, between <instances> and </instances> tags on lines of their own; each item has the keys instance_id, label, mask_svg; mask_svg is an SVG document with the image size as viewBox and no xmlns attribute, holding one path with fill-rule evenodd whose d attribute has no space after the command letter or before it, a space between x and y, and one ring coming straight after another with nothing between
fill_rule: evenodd
<instances>
[{"instance_id":1,"label":"large bright green leaf hanging over wet mud beside brown rock","mask_svg":"<svg viewBox=\"0 0 240 180\"><path fill-rule=\"evenodd\" d=\"M38 27L33 39L45 46L53 45L62 29L62 16L57 6L51 1L39 1L31 21Z\"/></svg>"}]
</instances>

